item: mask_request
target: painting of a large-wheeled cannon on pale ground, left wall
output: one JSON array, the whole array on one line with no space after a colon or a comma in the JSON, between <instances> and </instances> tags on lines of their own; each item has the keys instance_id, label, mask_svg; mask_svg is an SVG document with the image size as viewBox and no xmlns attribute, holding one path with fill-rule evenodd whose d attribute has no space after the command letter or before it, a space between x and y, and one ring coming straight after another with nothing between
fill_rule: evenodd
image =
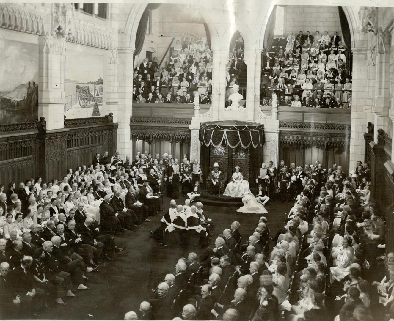
<instances>
[{"instance_id":1,"label":"painting of a large-wheeled cannon on pale ground, left wall","mask_svg":"<svg viewBox=\"0 0 394 321\"><path fill-rule=\"evenodd\" d=\"M103 58L85 51L66 50L64 114L67 118L102 115Z\"/></svg>"}]
</instances>

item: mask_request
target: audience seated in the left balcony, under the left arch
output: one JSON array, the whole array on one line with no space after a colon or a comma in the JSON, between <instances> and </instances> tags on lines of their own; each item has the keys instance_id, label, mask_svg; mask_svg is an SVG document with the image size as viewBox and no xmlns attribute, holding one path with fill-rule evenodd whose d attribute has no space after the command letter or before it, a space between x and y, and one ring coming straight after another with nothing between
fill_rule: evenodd
<instances>
[{"instance_id":1,"label":"audience seated in the left balcony, under the left arch","mask_svg":"<svg viewBox=\"0 0 394 321\"><path fill-rule=\"evenodd\" d=\"M185 33L177 40L167 67L159 67L157 57L134 69L133 101L188 103L187 96L197 91L201 103L208 104L212 87L212 51L204 35ZM135 86L135 87L134 87Z\"/></svg>"}]
</instances>

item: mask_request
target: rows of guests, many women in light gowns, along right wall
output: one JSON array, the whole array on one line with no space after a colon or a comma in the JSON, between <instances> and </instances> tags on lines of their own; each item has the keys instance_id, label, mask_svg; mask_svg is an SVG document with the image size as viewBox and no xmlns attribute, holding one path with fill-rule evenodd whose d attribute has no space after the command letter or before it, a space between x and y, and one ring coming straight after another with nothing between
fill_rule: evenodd
<instances>
[{"instance_id":1,"label":"rows of guests, many women in light gowns, along right wall","mask_svg":"<svg viewBox=\"0 0 394 321\"><path fill-rule=\"evenodd\" d=\"M282 249L290 267L278 297L281 319L369 320L381 310L370 285L381 278L374 272L382 269L376 256L384 247L385 226L370 199L368 164L357 162L351 176L341 166L326 171L320 162L315 165L292 166L294 206L269 257ZM391 278L382 282L390 291Z\"/></svg>"}]
</instances>

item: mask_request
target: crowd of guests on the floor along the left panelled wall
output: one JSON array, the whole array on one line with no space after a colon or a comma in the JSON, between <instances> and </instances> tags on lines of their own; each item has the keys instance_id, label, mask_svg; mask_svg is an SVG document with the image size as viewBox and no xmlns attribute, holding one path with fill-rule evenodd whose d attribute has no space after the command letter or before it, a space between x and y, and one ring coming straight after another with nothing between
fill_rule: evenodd
<instances>
[{"instance_id":1,"label":"crowd of guests on the floor along the left panelled wall","mask_svg":"<svg viewBox=\"0 0 394 321\"><path fill-rule=\"evenodd\" d=\"M11 182L7 190L0 186L4 318L38 317L51 302L65 305L65 297L78 297L75 290L90 290L86 273L97 271L102 259L112 261L113 252L124 250L115 244L115 232L131 230L161 211L154 195L161 179L171 179L165 165L158 163L168 167L175 163L178 176L180 165L165 155L159 160L156 154L153 160L147 152L140 154L134 161L128 156L123 161L118 151L113 156L97 153L91 164L68 169L60 184L37 177ZM184 163L191 167L189 161ZM178 181L164 185L170 193L172 187L174 191L180 187ZM186 185L182 185L185 194L191 192Z\"/></svg>"}]
</instances>

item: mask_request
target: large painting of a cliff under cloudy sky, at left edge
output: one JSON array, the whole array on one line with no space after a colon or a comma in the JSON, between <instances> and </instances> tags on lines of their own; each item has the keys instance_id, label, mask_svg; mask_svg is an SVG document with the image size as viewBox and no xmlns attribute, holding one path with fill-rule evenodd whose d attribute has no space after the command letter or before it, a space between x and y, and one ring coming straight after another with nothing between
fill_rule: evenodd
<instances>
[{"instance_id":1,"label":"large painting of a cliff under cloudy sky, at left edge","mask_svg":"<svg viewBox=\"0 0 394 321\"><path fill-rule=\"evenodd\" d=\"M38 45L0 39L0 124L37 120Z\"/></svg>"}]
</instances>

